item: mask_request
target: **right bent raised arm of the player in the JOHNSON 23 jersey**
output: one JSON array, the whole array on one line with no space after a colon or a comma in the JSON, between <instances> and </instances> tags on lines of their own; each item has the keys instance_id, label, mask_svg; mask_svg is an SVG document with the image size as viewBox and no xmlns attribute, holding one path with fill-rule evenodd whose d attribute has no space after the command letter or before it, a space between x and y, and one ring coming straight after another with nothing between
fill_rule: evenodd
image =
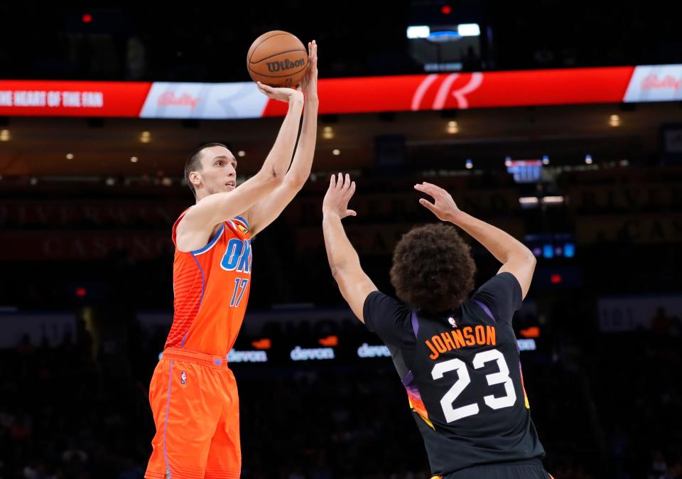
<instances>
[{"instance_id":1,"label":"right bent raised arm of the player in the JOHNSON 23 jersey","mask_svg":"<svg viewBox=\"0 0 682 479\"><path fill-rule=\"evenodd\" d=\"M414 189L433 198L433 203L421 198L419 200L421 205L440 220L452 222L465 230L497 258L502 263L498 274L505 271L513 274L521 285L522 297L526 297L536 265L536 259L530 249L507 232L467 215L458 208L453 197L443 188L425 182L414 185Z\"/></svg>"}]
</instances>

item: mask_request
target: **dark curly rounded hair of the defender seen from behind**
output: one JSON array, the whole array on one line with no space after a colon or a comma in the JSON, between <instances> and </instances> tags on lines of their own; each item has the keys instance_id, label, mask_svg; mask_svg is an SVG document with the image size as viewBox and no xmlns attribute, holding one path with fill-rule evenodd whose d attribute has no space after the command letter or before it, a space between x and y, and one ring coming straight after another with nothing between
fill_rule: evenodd
<instances>
[{"instance_id":1,"label":"dark curly rounded hair of the defender seen from behind","mask_svg":"<svg viewBox=\"0 0 682 479\"><path fill-rule=\"evenodd\" d=\"M391 284L398 297L421 313L458 308L474 288L471 247L455 227L414 227L396 244Z\"/></svg>"}]
</instances>

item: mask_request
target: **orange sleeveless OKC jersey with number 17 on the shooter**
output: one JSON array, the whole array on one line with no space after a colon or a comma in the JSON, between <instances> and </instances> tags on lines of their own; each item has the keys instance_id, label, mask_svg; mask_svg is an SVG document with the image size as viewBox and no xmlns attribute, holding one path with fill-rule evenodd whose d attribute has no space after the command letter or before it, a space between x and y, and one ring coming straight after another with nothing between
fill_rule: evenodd
<instances>
[{"instance_id":1,"label":"orange sleeveless OKC jersey with number 17 on the shooter","mask_svg":"<svg viewBox=\"0 0 682 479\"><path fill-rule=\"evenodd\" d=\"M173 325L166 348L225 356L237 339L251 289L251 235L242 217L222 222L208 244L178 251L173 225Z\"/></svg>"}]
</instances>

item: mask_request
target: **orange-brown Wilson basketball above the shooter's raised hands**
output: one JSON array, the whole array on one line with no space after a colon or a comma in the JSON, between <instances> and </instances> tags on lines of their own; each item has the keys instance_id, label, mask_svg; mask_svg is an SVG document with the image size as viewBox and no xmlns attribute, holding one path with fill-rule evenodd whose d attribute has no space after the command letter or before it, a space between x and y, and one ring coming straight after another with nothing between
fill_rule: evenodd
<instances>
[{"instance_id":1,"label":"orange-brown Wilson basketball above the shooter's raised hands","mask_svg":"<svg viewBox=\"0 0 682 479\"><path fill-rule=\"evenodd\" d=\"M296 87L307 69L308 51L296 36L286 31L263 33L247 53L251 79L271 87Z\"/></svg>"}]
</instances>

